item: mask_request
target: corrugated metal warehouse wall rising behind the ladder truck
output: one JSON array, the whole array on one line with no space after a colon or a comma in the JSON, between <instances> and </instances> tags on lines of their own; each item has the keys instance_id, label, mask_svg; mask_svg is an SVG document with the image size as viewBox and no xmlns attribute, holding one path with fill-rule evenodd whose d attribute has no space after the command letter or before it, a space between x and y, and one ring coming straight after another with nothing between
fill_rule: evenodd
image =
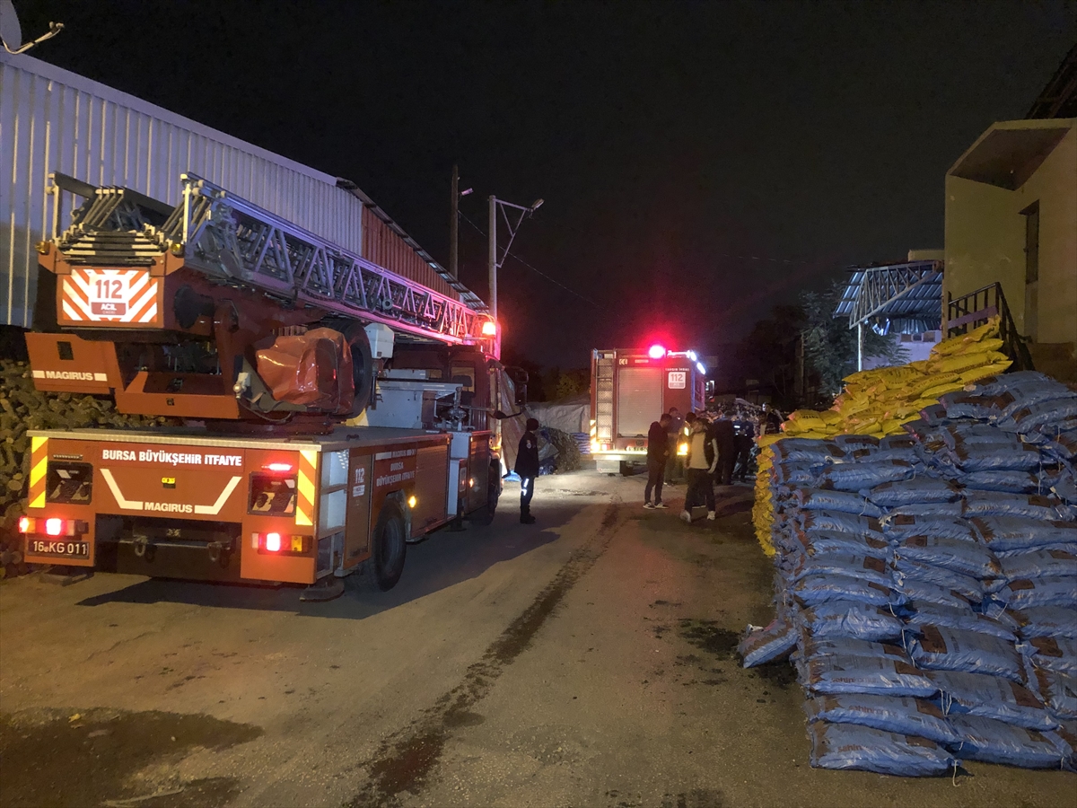
<instances>
[{"instance_id":1,"label":"corrugated metal warehouse wall rising behind the ladder truck","mask_svg":"<svg viewBox=\"0 0 1077 808\"><path fill-rule=\"evenodd\" d=\"M180 201L180 175L195 173L380 266L485 308L354 183L0 50L0 324L32 324L34 245L53 227L45 196L52 172L129 187L169 205Z\"/></svg>"}]
</instances>

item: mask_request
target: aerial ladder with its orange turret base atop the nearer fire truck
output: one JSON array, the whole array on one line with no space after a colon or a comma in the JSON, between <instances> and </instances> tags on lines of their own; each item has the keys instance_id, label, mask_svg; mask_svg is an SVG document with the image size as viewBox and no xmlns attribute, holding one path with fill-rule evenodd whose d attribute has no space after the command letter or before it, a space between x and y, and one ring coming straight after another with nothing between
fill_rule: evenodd
<instances>
[{"instance_id":1,"label":"aerial ladder with its orange turret base atop the nearer fire truck","mask_svg":"<svg viewBox=\"0 0 1077 808\"><path fill-rule=\"evenodd\" d=\"M181 184L172 208L54 175L53 238L39 246L48 271L27 339L40 389L111 393L143 415L325 420L369 403L390 329L496 357L496 325L471 292L442 294L194 175ZM61 191L85 201L58 232ZM342 343L335 359L318 354L321 380L351 366L354 395L331 413L275 399L257 372L258 351L319 328Z\"/></svg>"}]
</instances>

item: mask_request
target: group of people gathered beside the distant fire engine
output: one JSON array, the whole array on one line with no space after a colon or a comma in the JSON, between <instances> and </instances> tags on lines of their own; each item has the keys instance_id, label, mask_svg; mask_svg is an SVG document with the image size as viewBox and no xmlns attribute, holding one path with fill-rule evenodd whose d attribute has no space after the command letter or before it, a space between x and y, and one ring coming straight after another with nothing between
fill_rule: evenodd
<instances>
[{"instance_id":1,"label":"group of people gathered beside the distant fire engine","mask_svg":"<svg viewBox=\"0 0 1077 808\"><path fill-rule=\"evenodd\" d=\"M662 485L672 478L679 458L684 460L688 490L681 518L691 521L691 509L707 505L707 518L714 520L714 485L745 480L755 443L751 420L733 421L724 413L688 413L683 419L676 407L653 421L647 432L647 485L643 506L665 509ZM679 448L684 446L684 451ZM654 501L652 501L654 493Z\"/></svg>"}]
</instances>

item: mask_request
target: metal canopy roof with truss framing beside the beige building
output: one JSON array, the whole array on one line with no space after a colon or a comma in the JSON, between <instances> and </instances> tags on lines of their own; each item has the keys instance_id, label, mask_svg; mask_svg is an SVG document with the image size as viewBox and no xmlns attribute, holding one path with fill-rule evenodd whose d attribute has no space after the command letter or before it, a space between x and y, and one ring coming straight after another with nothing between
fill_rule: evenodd
<instances>
[{"instance_id":1,"label":"metal canopy roof with truss framing beside the beige building","mask_svg":"<svg viewBox=\"0 0 1077 808\"><path fill-rule=\"evenodd\" d=\"M871 322L882 334L935 331L942 321L942 262L854 267L834 317L849 328Z\"/></svg>"}]
</instances>

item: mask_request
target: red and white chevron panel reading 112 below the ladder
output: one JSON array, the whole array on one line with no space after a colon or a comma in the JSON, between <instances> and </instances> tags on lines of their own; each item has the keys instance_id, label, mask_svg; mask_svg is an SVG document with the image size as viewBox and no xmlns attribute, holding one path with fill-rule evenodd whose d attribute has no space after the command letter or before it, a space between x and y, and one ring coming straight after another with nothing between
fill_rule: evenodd
<instances>
[{"instance_id":1,"label":"red and white chevron panel reading 112 below the ladder","mask_svg":"<svg viewBox=\"0 0 1077 808\"><path fill-rule=\"evenodd\" d=\"M71 322L157 322L160 280L148 269L87 269L65 276L60 304Z\"/></svg>"}]
</instances>

